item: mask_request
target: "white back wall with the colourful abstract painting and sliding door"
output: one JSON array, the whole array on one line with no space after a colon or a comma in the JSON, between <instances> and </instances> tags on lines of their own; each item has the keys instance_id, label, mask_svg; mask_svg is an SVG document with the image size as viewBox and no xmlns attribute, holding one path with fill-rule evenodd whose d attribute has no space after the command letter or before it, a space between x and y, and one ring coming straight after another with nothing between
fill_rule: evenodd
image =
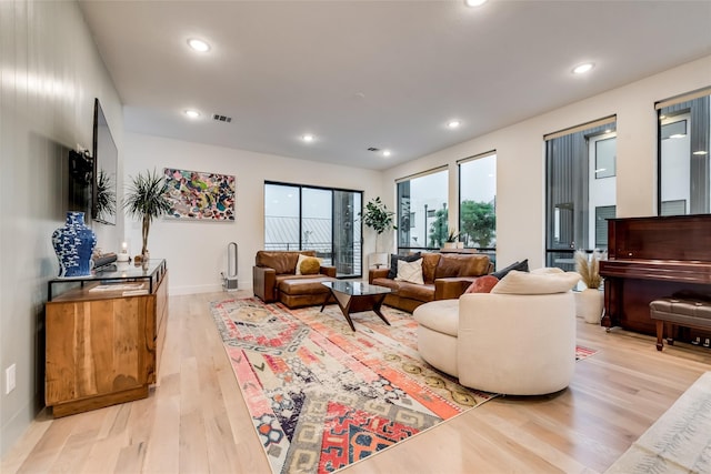
<instances>
[{"instance_id":1,"label":"white back wall with the colourful abstract painting and sliding door","mask_svg":"<svg viewBox=\"0 0 711 474\"><path fill-rule=\"evenodd\" d=\"M312 184L364 191L363 202L380 195L381 173L313 161L253 153L183 142L153 135L126 133L124 180L146 170L178 168L237 177L237 219L233 223L159 219L151 225L151 259L166 259L171 294L222 290L220 272L227 271L227 245L239 245L239 288L252 288L254 254L264 246L264 181ZM127 238L133 253L140 251L138 221L127 218ZM365 231L363 255L374 251ZM363 269L367 271L367 262Z\"/></svg>"}]
</instances>

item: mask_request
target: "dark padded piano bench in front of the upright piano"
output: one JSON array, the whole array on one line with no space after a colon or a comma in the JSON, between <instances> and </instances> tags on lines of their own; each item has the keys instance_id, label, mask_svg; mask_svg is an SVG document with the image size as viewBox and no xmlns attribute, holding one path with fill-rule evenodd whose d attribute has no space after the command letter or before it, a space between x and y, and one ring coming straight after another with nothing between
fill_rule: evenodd
<instances>
[{"instance_id":1,"label":"dark padded piano bench in front of the upright piano","mask_svg":"<svg viewBox=\"0 0 711 474\"><path fill-rule=\"evenodd\" d=\"M693 327L697 330L711 330L711 302L702 300L682 300L675 297L661 297L649 303L650 317L657 321L657 350L663 347L664 323ZM668 334L667 342L673 345L674 340Z\"/></svg>"}]
</instances>

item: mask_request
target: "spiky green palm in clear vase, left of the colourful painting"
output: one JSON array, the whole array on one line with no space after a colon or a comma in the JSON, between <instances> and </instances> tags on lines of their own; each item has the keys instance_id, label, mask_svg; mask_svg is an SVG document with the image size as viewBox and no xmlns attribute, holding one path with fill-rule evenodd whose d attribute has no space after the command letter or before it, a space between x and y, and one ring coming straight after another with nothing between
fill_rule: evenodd
<instances>
[{"instance_id":1,"label":"spiky green palm in clear vase, left of the colourful painting","mask_svg":"<svg viewBox=\"0 0 711 474\"><path fill-rule=\"evenodd\" d=\"M129 177L131 183L124 196L123 209L134 218L142 221L141 236L143 246L141 258L148 259L148 232L153 219L170 212L172 205L166 198L168 186L163 177L156 170L146 171L146 174L138 173L136 178Z\"/></svg>"}]
</instances>

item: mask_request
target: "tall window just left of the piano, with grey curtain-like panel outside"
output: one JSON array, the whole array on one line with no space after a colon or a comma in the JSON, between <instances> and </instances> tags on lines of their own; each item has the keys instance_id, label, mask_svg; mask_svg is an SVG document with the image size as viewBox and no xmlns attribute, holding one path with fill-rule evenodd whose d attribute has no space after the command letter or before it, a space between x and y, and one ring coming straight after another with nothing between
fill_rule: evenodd
<instances>
[{"instance_id":1,"label":"tall window just left of the piano, with grey curtain-like panel outside","mask_svg":"<svg viewBox=\"0 0 711 474\"><path fill-rule=\"evenodd\" d=\"M545 137L545 264L573 270L577 250L607 250L615 216L614 117Z\"/></svg>"}]
</instances>

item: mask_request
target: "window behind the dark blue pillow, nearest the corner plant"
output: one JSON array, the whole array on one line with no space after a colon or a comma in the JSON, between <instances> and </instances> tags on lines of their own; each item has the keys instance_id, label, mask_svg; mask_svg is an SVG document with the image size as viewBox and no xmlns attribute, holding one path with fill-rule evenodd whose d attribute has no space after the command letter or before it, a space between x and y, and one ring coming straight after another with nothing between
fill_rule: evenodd
<instances>
[{"instance_id":1,"label":"window behind the dark blue pillow, nearest the corner plant","mask_svg":"<svg viewBox=\"0 0 711 474\"><path fill-rule=\"evenodd\" d=\"M398 251L441 249L449 232L447 168L398 181Z\"/></svg>"}]
</instances>

